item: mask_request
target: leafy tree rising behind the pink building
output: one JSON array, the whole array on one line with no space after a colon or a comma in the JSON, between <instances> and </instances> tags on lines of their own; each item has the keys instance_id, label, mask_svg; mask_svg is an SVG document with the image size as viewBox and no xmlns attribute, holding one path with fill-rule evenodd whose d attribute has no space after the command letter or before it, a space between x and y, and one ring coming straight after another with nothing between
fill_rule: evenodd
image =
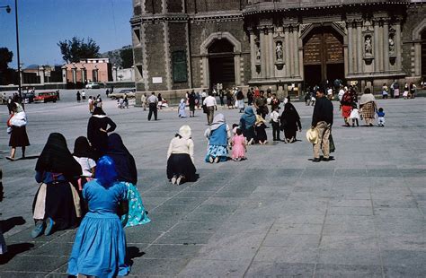
<instances>
[{"instance_id":1,"label":"leafy tree rising behind the pink building","mask_svg":"<svg viewBox=\"0 0 426 278\"><path fill-rule=\"evenodd\" d=\"M81 59L86 58L97 58L99 57L99 46L96 42L87 38L87 42L84 39L73 37L73 39L66 39L58 42L58 47L62 54L62 58L67 63L77 63Z\"/></svg>"}]
</instances>

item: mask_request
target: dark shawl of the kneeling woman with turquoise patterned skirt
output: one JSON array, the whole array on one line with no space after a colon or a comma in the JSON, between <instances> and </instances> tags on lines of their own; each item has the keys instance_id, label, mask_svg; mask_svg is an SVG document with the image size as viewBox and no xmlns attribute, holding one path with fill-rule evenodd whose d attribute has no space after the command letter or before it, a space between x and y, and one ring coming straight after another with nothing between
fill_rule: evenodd
<instances>
[{"instance_id":1,"label":"dark shawl of the kneeling woman with turquoise patterned skirt","mask_svg":"<svg viewBox=\"0 0 426 278\"><path fill-rule=\"evenodd\" d=\"M111 134L108 136L108 151L106 155L110 156L115 162L115 167L120 181L128 181L136 185L138 182L138 170L133 156L130 154L120 135Z\"/></svg>"}]
</instances>

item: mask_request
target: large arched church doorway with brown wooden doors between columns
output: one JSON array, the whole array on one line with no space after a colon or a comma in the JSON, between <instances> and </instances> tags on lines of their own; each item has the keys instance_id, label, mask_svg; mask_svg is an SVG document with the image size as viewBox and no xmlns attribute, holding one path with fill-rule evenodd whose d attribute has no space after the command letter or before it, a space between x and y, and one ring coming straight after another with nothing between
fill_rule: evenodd
<instances>
[{"instance_id":1,"label":"large arched church doorway with brown wooden doors between columns","mask_svg":"<svg viewBox=\"0 0 426 278\"><path fill-rule=\"evenodd\" d=\"M344 79L343 37L331 26L315 27L303 39L305 83Z\"/></svg>"}]
</instances>

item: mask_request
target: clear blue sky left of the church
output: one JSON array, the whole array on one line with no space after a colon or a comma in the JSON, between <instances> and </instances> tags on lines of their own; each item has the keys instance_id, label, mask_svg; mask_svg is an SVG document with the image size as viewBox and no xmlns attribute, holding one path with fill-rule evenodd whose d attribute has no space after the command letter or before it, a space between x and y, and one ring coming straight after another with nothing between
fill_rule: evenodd
<instances>
[{"instance_id":1,"label":"clear blue sky left of the church","mask_svg":"<svg viewBox=\"0 0 426 278\"><path fill-rule=\"evenodd\" d=\"M14 0L11 13L0 9L0 48L13 51L16 68ZM74 36L92 38L100 52L131 44L130 18L132 0L18 0L20 56L23 68L28 65L63 64L57 45Z\"/></svg>"}]
</instances>

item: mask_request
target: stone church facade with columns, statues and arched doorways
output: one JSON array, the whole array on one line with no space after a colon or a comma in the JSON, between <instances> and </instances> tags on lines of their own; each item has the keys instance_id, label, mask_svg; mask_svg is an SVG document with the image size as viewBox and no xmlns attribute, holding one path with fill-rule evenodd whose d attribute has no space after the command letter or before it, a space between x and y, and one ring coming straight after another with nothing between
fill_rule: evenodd
<instances>
[{"instance_id":1,"label":"stone church facade with columns, statues and arched doorways","mask_svg":"<svg viewBox=\"0 0 426 278\"><path fill-rule=\"evenodd\" d=\"M426 1L133 0L138 91L426 77Z\"/></svg>"}]
</instances>

